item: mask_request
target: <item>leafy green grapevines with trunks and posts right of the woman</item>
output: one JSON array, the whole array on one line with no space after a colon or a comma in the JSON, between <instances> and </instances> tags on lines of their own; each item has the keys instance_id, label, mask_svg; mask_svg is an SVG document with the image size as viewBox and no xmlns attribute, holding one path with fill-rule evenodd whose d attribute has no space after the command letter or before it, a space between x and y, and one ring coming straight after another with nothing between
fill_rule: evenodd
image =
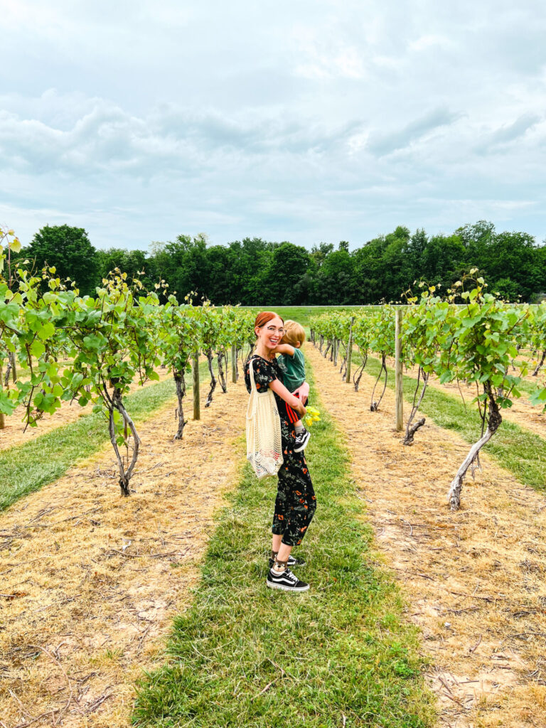
<instances>
[{"instance_id":1,"label":"leafy green grapevines with trunks and posts right of the woman","mask_svg":"<svg viewBox=\"0 0 546 728\"><path fill-rule=\"evenodd\" d=\"M424 424L417 419L430 377L440 384L456 381L475 389L480 438L457 470L448 492L451 510L460 507L467 470L479 464L481 448L502 423L502 410L521 397L521 382L531 372L535 386L531 403L546 408L546 382L541 375L546 359L546 304L508 304L488 293L482 278L470 272L446 296L425 286L420 296L406 296L406 306L385 304L360 312L328 312L311 320L311 338L357 390L368 356L379 355L381 368L371 394L377 411L387 389L387 360L395 359L396 427L403 429L403 367L416 368L416 389L405 422L403 443L411 445ZM352 371L354 346L360 364Z\"/></svg>"}]
</instances>

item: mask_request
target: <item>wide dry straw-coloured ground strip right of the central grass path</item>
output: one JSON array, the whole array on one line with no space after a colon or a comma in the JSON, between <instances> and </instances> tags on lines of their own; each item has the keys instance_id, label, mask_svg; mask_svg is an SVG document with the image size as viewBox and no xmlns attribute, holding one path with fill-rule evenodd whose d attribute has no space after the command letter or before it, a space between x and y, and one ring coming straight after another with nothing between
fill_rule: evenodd
<instances>
[{"instance_id":1,"label":"wide dry straw-coloured ground strip right of the central grass path","mask_svg":"<svg viewBox=\"0 0 546 728\"><path fill-rule=\"evenodd\" d=\"M413 447L394 431L394 392L369 411L360 392L309 346L317 388L347 432L352 472L387 563L403 582L408 615L432 663L440 725L546 725L546 500L484 454L464 485L462 510L448 484L468 451L430 420Z\"/></svg>"}]
</instances>

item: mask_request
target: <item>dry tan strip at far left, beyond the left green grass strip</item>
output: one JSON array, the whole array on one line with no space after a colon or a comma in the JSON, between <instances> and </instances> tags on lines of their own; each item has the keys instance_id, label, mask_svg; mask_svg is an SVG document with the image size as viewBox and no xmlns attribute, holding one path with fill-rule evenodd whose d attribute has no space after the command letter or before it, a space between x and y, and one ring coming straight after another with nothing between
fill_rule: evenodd
<instances>
[{"instance_id":1,"label":"dry tan strip at far left, beyond the left green grass strip","mask_svg":"<svg viewBox=\"0 0 546 728\"><path fill-rule=\"evenodd\" d=\"M164 381L173 376L168 369L159 368L157 373L159 374L159 381ZM157 384L157 381L147 381L144 387L149 387L151 384ZM139 388L141 388L140 385L135 382L132 384L130 391L135 392ZM12 415L5 418L5 427L0 430L0 450L7 450L7 448L15 445L28 443L34 438L39 438L40 435L45 435L46 432L51 432L57 427L63 427L65 424L74 422L82 415L90 414L90 412L91 405L80 407L77 402L63 402L53 414L44 414L37 427L27 427L25 431L25 425L21 422L25 410L23 407L18 407Z\"/></svg>"}]
</instances>

